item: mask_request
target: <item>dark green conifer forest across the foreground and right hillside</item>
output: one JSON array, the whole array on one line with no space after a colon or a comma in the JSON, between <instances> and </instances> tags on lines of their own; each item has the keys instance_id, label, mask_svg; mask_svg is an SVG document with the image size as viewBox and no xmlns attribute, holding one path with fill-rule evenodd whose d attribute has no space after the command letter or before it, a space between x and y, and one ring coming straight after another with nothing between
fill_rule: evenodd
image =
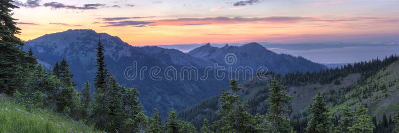
<instances>
[{"instance_id":1,"label":"dark green conifer forest across the foreground and right hillside","mask_svg":"<svg viewBox=\"0 0 399 133\"><path fill-rule=\"evenodd\" d=\"M228 90L222 90L217 98L206 102L216 107L216 117L203 119L202 123L192 124L182 121L189 113L178 113L172 110L168 116L161 118L160 111L154 109L153 116L146 116L136 87L127 88L120 85L112 73L107 70L104 61L104 47L98 41L96 49L97 71L94 79L95 92L86 81L81 90L77 90L72 81L68 62L63 59L54 65L53 70L46 70L38 64L31 50L22 50L23 41L16 35L21 29L12 18L13 0L0 1L0 93L5 94L23 105L29 111L49 109L71 121L82 122L95 129L109 133L392 133L399 132L399 113L382 119L367 114L368 105L359 104L355 110L345 107L339 112L331 112L331 104L344 102L344 94L355 89L355 86L340 89L340 92L321 94L318 92L310 108L301 115L289 119L292 96L284 91L287 86L299 86L308 83L327 84L339 77L352 73L361 73L357 84L368 85L365 80L386 68L399 57L392 55L384 60L372 60L348 64L341 68L322 70L320 72L271 74L267 96L252 99L244 103L240 99L242 87L237 80L231 79ZM396 84L393 82L392 84ZM384 87L373 89L384 90ZM373 90L364 91L354 97L367 97ZM212 100L213 99L213 100ZM217 102L220 101L220 103ZM216 101L216 102L214 102ZM264 103L261 112L251 110L251 105ZM357 103L357 102L355 102ZM208 106L207 105L207 106ZM398 110L398 109L397 109ZM195 114L195 113L193 113ZM1 118L0 118L1 119ZM4 121L0 120L0 123Z\"/></svg>"}]
</instances>

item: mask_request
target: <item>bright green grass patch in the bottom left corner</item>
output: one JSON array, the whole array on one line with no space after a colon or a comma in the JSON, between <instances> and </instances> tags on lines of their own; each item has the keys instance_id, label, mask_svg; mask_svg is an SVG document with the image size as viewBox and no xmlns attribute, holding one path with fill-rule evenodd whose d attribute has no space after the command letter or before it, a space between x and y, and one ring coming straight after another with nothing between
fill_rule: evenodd
<instances>
[{"instance_id":1,"label":"bright green grass patch in the bottom left corner","mask_svg":"<svg viewBox=\"0 0 399 133\"><path fill-rule=\"evenodd\" d=\"M0 94L0 133L99 133L49 110L25 113L22 105Z\"/></svg>"}]
</instances>

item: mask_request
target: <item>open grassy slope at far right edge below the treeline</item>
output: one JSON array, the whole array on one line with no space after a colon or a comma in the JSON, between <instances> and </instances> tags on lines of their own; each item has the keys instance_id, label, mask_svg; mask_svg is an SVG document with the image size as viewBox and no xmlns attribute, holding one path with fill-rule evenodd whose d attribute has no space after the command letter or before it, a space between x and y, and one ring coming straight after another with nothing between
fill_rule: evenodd
<instances>
[{"instance_id":1,"label":"open grassy slope at far right edge below the treeline","mask_svg":"<svg viewBox=\"0 0 399 133\"><path fill-rule=\"evenodd\" d=\"M374 84L378 84L377 88L382 88L385 85L387 89L378 90L373 88ZM351 98L331 110L333 112L337 111L344 107L345 104L350 103L356 103L352 106L352 108L355 108L360 101L360 103L368 105L369 115L381 117L384 113L392 115L399 111L399 61L392 63L386 69L380 70L376 75L368 78L366 84L357 85L356 89L351 90L345 96L350 97L351 94L362 92L370 87L375 89L375 91L370 92L370 96L367 96L367 98ZM365 94L362 93L361 96L363 95Z\"/></svg>"}]
</instances>

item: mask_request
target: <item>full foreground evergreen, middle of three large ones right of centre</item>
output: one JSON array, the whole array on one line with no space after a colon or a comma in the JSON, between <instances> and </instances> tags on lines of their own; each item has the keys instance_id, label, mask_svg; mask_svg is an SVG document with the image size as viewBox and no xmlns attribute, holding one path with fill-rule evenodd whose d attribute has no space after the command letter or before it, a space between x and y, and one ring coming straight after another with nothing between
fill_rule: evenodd
<instances>
[{"instance_id":1,"label":"full foreground evergreen, middle of three large ones right of centre","mask_svg":"<svg viewBox=\"0 0 399 133\"><path fill-rule=\"evenodd\" d=\"M293 129L289 123L289 119L285 115L291 111L284 109L284 106L290 103L292 97L282 90L286 87L278 85L276 80L272 80L269 86L269 112L266 114L267 128L270 133L292 133Z\"/></svg>"}]
</instances>

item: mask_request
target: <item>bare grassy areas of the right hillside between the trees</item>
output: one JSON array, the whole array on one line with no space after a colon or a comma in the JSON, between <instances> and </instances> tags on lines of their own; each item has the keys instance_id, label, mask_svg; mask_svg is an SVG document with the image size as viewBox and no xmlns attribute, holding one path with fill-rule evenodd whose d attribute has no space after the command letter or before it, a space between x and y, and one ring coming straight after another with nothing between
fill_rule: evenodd
<instances>
[{"instance_id":1,"label":"bare grassy areas of the right hillside between the trees","mask_svg":"<svg viewBox=\"0 0 399 133\"><path fill-rule=\"evenodd\" d=\"M387 75L388 73L388 75ZM350 86L352 84L356 84L358 79L361 77L361 74L350 74L346 77L340 77L337 80L341 80L340 85L335 85L334 81L327 85L320 84L307 84L305 86L292 86L288 87L285 91L288 92L289 95L293 96L291 108L292 114L290 118L293 117L294 114L298 114L300 112L306 112L308 107L311 105L312 98L315 96L316 92L320 91L327 96L329 92L334 90L338 92L341 88ZM397 79L397 82L393 82ZM388 87L389 83L393 84L393 86ZM371 96L366 99L363 98L351 98L345 101L342 104L335 105L330 108L330 111L336 113L340 111L346 104L353 104L352 108L356 108L359 102L367 103L369 108L369 114L381 117L383 113L388 115L393 114L395 111L399 110L399 61L391 64L384 70L380 70L376 75L371 76L366 81L366 85L356 85L355 89L351 90L349 93L345 94L346 97L350 97L352 93L361 94L362 89L365 86L370 86L371 83L379 83L380 85L385 84L388 89L387 91L377 91L371 92ZM243 87L243 90L240 92L240 99L243 103L248 103L253 99L259 99L259 103L257 105L249 107L255 109L256 112L265 112L265 102L267 99L267 90L268 82L266 81L257 81L257 80L247 80L240 84ZM387 94L387 97L386 97ZM379 96L379 99L375 99L376 96ZM216 102L217 101L217 102ZM218 109L218 103L220 101L217 100L216 97L206 99L200 104L183 110L179 113L179 118L185 121L190 121L196 126L201 125L203 118L208 118L210 121L217 119L217 115L215 114ZM212 104L209 104L212 103ZM355 104L354 104L355 103ZM332 106L331 104L329 104Z\"/></svg>"}]
</instances>

